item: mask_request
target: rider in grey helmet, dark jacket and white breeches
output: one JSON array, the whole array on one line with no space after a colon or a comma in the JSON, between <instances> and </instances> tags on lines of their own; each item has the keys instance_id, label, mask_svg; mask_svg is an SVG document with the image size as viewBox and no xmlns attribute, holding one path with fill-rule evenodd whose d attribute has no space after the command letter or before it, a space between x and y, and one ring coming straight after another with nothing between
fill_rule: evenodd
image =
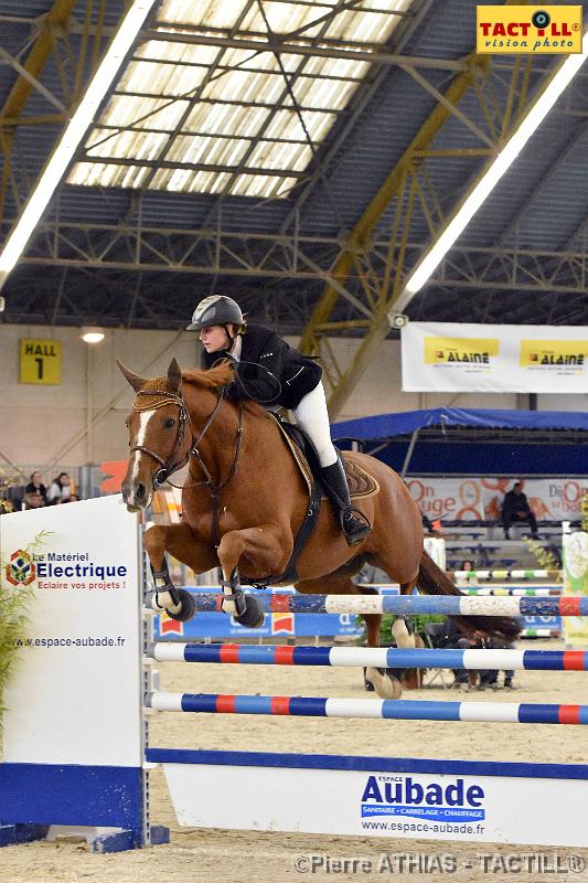
<instances>
[{"instance_id":1,"label":"rider in grey helmet, dark jacket and white breeches","mask_svg":"<svg viewBox=\"0 0 588 883\"><path fill-rule=\"evenodd\" d=\"M229 398L252 398L293 412L317 449L321 481L349 545L361 543L372 525L351 503L345 470L331 442L320 365L271 329L247 325L238 304L222 295L201 300L186 330L200 331L203 368L212 368L223 358L233 363L235 380L227 389Z\"/></svg>"}]
</instances>

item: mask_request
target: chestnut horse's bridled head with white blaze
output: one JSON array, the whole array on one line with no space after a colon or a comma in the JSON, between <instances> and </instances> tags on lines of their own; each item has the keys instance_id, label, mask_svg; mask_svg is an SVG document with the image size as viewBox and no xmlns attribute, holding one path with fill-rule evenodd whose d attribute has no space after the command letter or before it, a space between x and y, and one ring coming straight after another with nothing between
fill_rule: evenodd
<instances>
[{"instance_id":1,"label":"chestnut horse's bridled head with white blaze","mask_svg":"<svg viewBox=\"0 0 588 883\"><path fill-rule=\"evenodd\" d=\"M192 433L175 359L167 377L152 380L139 377L118 360L117 365L136 393L127 417L130 456L121 489L127 509L137 512L149 506L154 488L188 457Z\"/></svg>"}]
</instances>

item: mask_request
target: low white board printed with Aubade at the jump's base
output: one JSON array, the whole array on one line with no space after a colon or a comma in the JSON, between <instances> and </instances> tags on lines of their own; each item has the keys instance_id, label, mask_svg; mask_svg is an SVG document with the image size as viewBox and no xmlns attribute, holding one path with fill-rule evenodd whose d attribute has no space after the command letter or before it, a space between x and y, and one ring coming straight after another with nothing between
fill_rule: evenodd
<instances>
[{"instance_id":1,"label":"low white board printed with Aubade at the jump's base","mask_svg":"<svg viewBox=\"0 0 588 883\"><path fill-rule=\"evenodd\" d=\"M498 776L498 764L471 762L319 755L310 766L306 755L286 755L288 768L282 755L280 765L269 766L267 755L261 766L264 755L256 754L250 766L216 766L215 754L194 752L201 755L194 764L163 764L182 826L552 847L586 841L577 810L586 783L546 779L538 764L501 764ZM370 767L361 769L366 760ZM432 763L438 772L427 769ZM368 870L389 873L377 860Z\"/></svg>"}]
</instances>

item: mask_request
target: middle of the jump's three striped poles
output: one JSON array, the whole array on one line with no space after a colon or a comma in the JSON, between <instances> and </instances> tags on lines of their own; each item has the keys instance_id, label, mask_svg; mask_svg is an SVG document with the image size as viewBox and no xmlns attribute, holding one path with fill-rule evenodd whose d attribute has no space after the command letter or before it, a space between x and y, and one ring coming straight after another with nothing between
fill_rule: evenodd
<instances>
[{"instance_id":1,"label":"middle of the jump's three striped poles","mask_svg":"<svg viewBox=\"0 0 588 883\"><path fill-rule=\"evenodd\" d=\"M389 669L517 669L587 671L584 650L428 650L395 647L282 647L159 641L147 656L158 662L245 666L365 666Z\"/></svg>"}]
</instances>

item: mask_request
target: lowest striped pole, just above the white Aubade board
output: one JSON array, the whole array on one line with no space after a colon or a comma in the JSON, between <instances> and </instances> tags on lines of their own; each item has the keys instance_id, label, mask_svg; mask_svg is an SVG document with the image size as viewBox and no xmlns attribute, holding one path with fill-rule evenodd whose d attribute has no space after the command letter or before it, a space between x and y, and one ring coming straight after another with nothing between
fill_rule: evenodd
<instances>
[{"instance_id":1,"label":"lowest striped pole, just above the white Aubade board","mask_svg":"<svg viewBox=\"0 0 588 883\"><path fill-rule=\"evenodd\" d=\"M320 699L317 696L156 692L147 694L146 704L154 711L194 712L197 714L588 724L588 705L544 705L524 702L425 702L391 699Z\"/></svg>"}]
</instances>

